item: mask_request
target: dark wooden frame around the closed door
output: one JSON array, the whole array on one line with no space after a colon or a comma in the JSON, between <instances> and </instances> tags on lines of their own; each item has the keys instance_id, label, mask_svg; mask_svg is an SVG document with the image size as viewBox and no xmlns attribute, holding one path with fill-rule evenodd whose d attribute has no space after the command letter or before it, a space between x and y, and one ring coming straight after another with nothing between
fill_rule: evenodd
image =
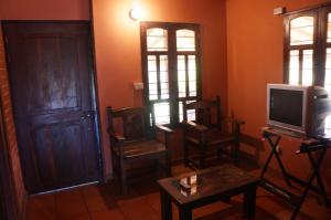
<instances>
[{"instance_id":1,"label":"dark wooden frame around the closed door","mask_svg":"<svg viewBox=\"0 0 331 220\"><path fill-rule=\"evenodd\" d=\"M96 55L95 55L95 39L94 39L94 32L93 32L93 22L90 20L2 20L0 21L2 24L12 24L12 23L33 23L33 24L38 24L38 23L85 23L87 24L88 31L89 31L89 49L90 49L90 63L92 63L92 70L90 70L90 74L92 77L90 80L93 82L89 82L92 85L92 107L95 111L95 117L94 117L94 127L95 127L95 136L96 136L96 147L97 147L97 154L98 154L98 172L99 172L99 177L98 177L98 182L105 182L105 163L104 163L104 148L103 148L103 138L102 138L102 123L100 123L100 109L99 109L99 96L98 96L98 85L97 85L97 74L96 74ZM7 45L7 36L6 36L6 29L4 25L2 27L2 34L4 38L4 52L6 52L6 61L7 61L7 66L8 66L8 74L9 74L9 87L10 87L10 92L12 94L12 78L10 76L10 65L9 65L9 50L8 50L8 45ZM12 109L13 109L13 103L12 103ZM15 121L15 119L14 119ZM21 159L21 158L20 158ZM86 182L84 185L88 185L89 182ZM90 182L93 184L93 182ZM76 185L82 186L82 185ZM72 186L72 187L76 187L76 186ZM70 187L70 188L72 188ZM62 189L55 189L55 190L51 190L51 191L57 191L57 190L62 190Z\"/></svg>"}]
</instances>

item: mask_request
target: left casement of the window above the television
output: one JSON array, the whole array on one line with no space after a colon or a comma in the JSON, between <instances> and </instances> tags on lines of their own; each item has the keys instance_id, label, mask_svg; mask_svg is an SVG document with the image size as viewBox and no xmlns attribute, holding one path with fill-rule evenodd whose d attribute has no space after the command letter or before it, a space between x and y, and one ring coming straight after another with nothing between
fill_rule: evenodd
<instances>
[{"instance_id":1,"label":"left casement of the window above the television","mask_svg":"<svg viewBox=\"0 0 331 220\"><path fill-rule=\"evenodd\" d=\"M313 70L317 54L316 11L291 14L286 18L285 73L289 84L317 83ZM316 73L316 75L313 74Z\"/></svg>"}]
</instances>

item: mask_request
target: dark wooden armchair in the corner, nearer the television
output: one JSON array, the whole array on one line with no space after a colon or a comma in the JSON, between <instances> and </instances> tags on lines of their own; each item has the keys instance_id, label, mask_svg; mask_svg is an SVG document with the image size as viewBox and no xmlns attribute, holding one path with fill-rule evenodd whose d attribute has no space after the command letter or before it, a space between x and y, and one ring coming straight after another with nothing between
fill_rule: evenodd
<instances>
[{"instance_id":1,"label":"dark wooden armchair in the corner, nearer the television","mask_svg":"<svg viewBox=\"0 0 331 220\"><path fill-rule=\"evenodd\" d=\"M188 119L188 111L195 111L195 121ZM217 153L228 153L225 148L231 146L231 155L237 163L239 148L241 125L243 121L221 116L221 102L217 96L213 101L197 101L183 104L183 124L184 124L184 164L192 164L195 167L205 167L207 156L215 156ZM229 132L228 130L229 128ZM190 148L197 148L197 159L190 157Z\"/></svg>"}]
</instances>

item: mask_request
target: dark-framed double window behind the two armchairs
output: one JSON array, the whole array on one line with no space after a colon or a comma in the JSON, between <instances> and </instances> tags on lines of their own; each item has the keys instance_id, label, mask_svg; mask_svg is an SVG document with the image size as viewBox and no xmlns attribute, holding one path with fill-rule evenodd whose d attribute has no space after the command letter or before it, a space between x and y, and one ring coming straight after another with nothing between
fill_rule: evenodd
<instances>
[{"instance_id":1,"label":"dark-framed double window behind the two armchairs","mask_svg":"<svg viewBox=\"0 0 331 220\"><path fill-rule=\"evenodd\" d=\"M183 102L201 97L199 24L141 22L145 105L152 124L178 124ZM191 119L194 112L188 112Z\"/></svg>"}]
</instances>

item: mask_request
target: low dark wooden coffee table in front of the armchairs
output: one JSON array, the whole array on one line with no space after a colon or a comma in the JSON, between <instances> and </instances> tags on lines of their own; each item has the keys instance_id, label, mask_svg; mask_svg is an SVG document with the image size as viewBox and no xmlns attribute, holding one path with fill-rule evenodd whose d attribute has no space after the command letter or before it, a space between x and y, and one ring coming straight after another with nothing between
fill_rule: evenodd
<instances>
[{"instance_id":1,"label":"low dark wooden coffee table in front of the armchairs","mask_svg":"<svg viewBox=\"0 0 331 220\"><path fill-rule=\"evenodd\" d=\"M181 184L182 182L182 184ZM244 217L255 214L255 197L259 179L246 171L223 165L158 180L162 219L172 219L171 201L179 208L181 220L192 219L192 210L244 193Z\"/></svg>"}]
</instances>

